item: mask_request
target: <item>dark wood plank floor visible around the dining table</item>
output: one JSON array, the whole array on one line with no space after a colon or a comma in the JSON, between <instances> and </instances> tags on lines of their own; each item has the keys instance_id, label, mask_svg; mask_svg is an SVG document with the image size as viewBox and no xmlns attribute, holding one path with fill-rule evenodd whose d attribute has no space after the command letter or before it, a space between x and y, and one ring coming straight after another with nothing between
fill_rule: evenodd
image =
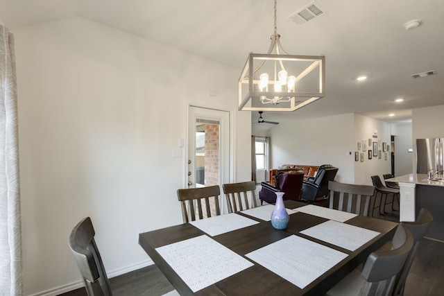
<instances>
[{"instance_id":1,"label":"dark wood plank floor visible around the dining table","mask_svg":"<svg viewBox=\"0 0 444 296\"><path fill-rule=\"evenodd\" d=\"M390 211L391 207L386 207ZM375 210L375 214L377 211ZM393 216L379 216L386 220L397 220ZM162 295L173 290L167 278L155 266L150 265L140 270L110 279L114 296ZM63 296L85 296L85 288L80 288ZM423 239L418 247L415 260L407 277L405 296L441 296L444 295L444 243Z\"/></svg>"}]
</instances>

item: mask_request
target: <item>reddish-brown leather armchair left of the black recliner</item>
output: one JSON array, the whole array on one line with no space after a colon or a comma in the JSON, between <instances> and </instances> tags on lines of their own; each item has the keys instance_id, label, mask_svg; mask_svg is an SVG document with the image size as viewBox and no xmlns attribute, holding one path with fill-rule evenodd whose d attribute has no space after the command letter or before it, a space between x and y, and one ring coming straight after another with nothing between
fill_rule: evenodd
<instances>
[{"instance_id":1,"label":"reddish-brown leather armchair left of the black recliner","mask_svg":"<svg viewBox=\"0 0 444 296\"><path fill-rule=\"evenodd\" d=\"M276 202L275 192L284 192L284 200L300 200L302 195L302 181L304 171L298 168L291 168L277 171L275 174L275 186L267 182L262 182L262 189L259 191L261 204L265 201L269 204Z\"/></svg>"}]
</instances>

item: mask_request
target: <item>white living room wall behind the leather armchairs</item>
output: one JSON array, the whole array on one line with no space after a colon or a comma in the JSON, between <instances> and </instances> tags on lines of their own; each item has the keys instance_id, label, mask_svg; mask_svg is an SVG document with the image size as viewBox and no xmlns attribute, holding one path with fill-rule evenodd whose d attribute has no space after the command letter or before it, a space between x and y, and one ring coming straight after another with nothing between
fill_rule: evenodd
<instances>
[{"instance_id":1,"label":"white living room wall behind the leather armchairs","mask_svg":"<svg viewBox=\"0 0 444 296\"><path fill-rule=\"evenodd\" d=\"M354 151L352 131L352 114L280 123L269 132L273 168L282 164L332 164L339 168L336 180L352 182L355 162L355 156L349 154Z\"/></svg>"}]
</instances>

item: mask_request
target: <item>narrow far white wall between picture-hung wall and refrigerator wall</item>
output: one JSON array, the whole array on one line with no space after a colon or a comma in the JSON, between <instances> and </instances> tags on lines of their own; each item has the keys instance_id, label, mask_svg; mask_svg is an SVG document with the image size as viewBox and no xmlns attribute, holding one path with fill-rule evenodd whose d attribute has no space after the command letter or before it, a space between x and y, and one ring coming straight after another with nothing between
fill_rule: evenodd
<instances>
[{"instance_id":1,"label":"narrow far white wall between picture-hung wall and refrigerator wall","mask_svg":"<svg viewBox=\"0 0 444 296\"><path fill-rule=\"evenodd\" d=\"M395 175L402 176L412 173L414 153L409 152L413 148L411 139L411 123L397 124L393 127L392 135L395 136Z\"/></svg>"}]
</instances>

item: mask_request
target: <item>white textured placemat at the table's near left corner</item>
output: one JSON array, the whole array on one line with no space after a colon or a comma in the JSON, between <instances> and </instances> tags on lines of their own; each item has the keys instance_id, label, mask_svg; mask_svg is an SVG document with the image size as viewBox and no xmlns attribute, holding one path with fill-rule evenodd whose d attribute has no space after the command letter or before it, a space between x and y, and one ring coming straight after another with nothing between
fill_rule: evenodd
<instances>
[{"instance_id":1,"label":"white textured placemat at the table's near left corner","mask_svg":"<svg viewBox=\"0 0 444 296\"><path fill-rule=\"evenodd\" d=\"M205 235L155 250L193 292L254 265Z\"/></svg>"}]
</instances>

